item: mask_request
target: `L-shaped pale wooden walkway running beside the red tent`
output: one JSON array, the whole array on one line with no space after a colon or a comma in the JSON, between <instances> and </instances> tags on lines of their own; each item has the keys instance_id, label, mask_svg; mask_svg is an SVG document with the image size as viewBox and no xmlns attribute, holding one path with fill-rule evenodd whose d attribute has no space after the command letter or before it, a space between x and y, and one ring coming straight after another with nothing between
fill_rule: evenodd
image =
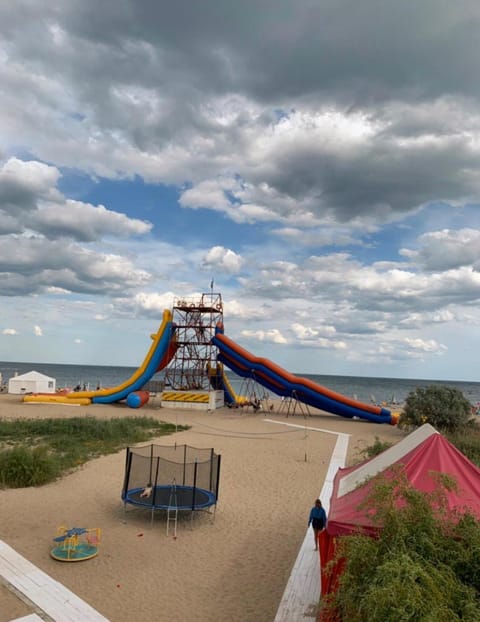
<instances>
[{"instance_id":1,"label":"L-shaped pale wooden walkway running beside the red tent","mask_svg":"<svg viewBox=\"0 0 480 622\"><path fill-rule=\"evenodd\" d=\"M323 507L328 514L330 497L333 491L333 478L337 470L345 466L350 435L320 428L305 428L302 425L282 423L271 419L265 419L265 421L294 428L313 430L315 432L335 434L337 436L327 475L319 495L322 499ZM320 556L318 551L314 550L312 531L308 529L293 565L274 622L315 621L317 619L320 596Z\"/></svg>"}]
</instances>

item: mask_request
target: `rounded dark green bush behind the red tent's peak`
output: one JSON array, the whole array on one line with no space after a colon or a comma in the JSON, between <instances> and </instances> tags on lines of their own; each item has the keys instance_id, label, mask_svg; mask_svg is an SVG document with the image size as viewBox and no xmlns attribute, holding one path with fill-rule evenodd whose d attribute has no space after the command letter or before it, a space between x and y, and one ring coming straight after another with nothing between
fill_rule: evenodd
<instances>
[{"instance_id":1,"label":"rounded dark green bush behind the red tent's peak","mask_svg":"<svg viewBox=\"0 0 480 622\"><path fill-rule=\"evenodd\" d=\"M418 427L430 423L441 432L453 432L468 425L471 411L472 405L458 389L417 387L408 394L398 425Z\"/></svg>"}]
</instances>

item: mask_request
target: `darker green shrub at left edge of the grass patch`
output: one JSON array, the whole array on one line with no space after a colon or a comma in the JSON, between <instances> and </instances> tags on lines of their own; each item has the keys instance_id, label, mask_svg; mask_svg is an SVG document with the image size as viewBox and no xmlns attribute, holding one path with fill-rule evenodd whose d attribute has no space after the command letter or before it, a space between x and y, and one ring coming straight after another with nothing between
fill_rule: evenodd
<instances>
[{"instance_id":1,"label":"darker green shrub at left edge of the grass patch","mask_svg":"<svg viewBox=\"0 0 480 622\"><path fill-rule=\"evenodd\" d=\"M3 487L40 486L56 479L60 468L44 445L14 447L0 453L0 483Z\"/></svg>"}]
</instances>

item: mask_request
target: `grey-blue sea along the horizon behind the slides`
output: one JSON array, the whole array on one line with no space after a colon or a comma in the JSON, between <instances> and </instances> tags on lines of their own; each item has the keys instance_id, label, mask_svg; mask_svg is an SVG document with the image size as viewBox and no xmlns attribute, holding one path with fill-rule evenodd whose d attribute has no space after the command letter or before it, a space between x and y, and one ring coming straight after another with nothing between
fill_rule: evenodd
<instances>
[{"instance_id":1,"label":"grey-blue sea along the horizon behind the slides","mask_svg":"<svg viewBox=\"0 0 480 622\"><path fill-rule=\"evenodd\" d=\"M52 363L10 363L0 361L0 374L3 384L15 376L35 370L56 379L57 388L73 388L78 385L87 390L97 387L114 387L135 373L136 367L110 367L103 365L59 365ZM366 376L333 376L324 374L303 374L292 372L297 376L308 378L317 384L342 395L352 397L366 403L401 405L407 395L417 387L442 385L461 391L474 405L480 403L480 382L460 382L456 380L422 380L408 378L374 378ZM239 378L227 371L227 376L234 391L239 395L252 393L252 381ZM162 380L160 372L153 380ZM259 388L256 394L263 396L265 389ZM268 392L267 392L268 393Z\"/></svg>"}]
</instances>

